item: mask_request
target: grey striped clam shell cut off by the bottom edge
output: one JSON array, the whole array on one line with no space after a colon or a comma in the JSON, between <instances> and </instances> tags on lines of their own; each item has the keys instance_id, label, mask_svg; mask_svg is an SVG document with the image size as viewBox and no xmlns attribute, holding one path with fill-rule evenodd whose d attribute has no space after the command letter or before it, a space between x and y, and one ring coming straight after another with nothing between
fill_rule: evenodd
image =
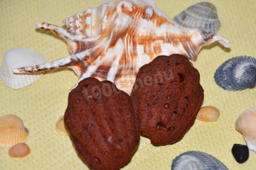
<instances>
[{"instance_id":1,"label":"grey striped clam shell cut off by the bottom edge","mask_svg":"<svg viewBox=\"0 0 256 170\"><path fill-rule=\"evenodd\" d=\"M228 170L228 168L207 153L188 151L172 161L172 170Z\"/></svg>"}]
</instances>

